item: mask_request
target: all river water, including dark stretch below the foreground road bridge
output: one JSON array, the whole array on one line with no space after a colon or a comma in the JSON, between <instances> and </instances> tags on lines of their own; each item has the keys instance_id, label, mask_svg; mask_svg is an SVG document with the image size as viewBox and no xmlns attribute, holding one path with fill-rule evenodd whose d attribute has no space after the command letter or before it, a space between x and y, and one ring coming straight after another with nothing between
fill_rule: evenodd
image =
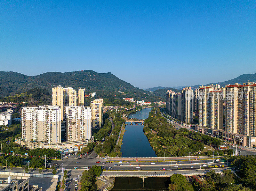
<instances>
[{"instance_id":1,"label":"all river water, including dark stretch below the foreground road bridge","mask_svg":"<svg viewBox=\"0 0 256 191\"><path fill-rule=\"evenodd\" d=\"M129 117L137 119L148 118L148 113L152 108L142 109L136 113L130 114ZM148 142L148 138L144 135L143 125L126 125L121 146L122 157L156 157L155 151ZM116 178L115 185L111 191L168 191L170 178L156 177L145 178L143 185L141 178Z\"/></svg>"}]
</instances>

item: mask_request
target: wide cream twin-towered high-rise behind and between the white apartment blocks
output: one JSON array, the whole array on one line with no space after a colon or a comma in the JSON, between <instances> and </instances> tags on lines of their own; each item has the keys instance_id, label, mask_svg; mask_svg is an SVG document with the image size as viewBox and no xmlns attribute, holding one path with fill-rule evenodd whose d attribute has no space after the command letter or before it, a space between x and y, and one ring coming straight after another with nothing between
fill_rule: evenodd
<instances>
[{"instance_id":1,"label":"wide cream twin-towered high-rise behind and between the white apartment blocks","mask_svg":"<svg viewBox=\"0 0 256 191\"><path fill-rule=\"evenodd\" d=\"M65 106L76 106L76 90L72 88L63 88L60 85L52 88L52 106L61 107L61 136L66 140L65 127Z\"/></svg>"}]
</instances>

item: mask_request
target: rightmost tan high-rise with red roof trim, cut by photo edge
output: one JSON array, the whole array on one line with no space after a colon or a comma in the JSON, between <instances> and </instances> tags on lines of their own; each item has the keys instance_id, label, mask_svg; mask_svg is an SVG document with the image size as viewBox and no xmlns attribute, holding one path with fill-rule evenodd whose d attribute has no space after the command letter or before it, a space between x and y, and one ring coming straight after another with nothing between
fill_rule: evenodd
<instances>
[{"instance_id":1,"label":"rightmost tan high-rise with red roof trim, cut by photo edge","mask_svg":"<svg viewBox=\"0 0 256 191\"><path fill-rule=\"evenodd\" d=\"M226 92L226 131L256 136L256 84L229 85Z\"/></svg>"}]
</instances>

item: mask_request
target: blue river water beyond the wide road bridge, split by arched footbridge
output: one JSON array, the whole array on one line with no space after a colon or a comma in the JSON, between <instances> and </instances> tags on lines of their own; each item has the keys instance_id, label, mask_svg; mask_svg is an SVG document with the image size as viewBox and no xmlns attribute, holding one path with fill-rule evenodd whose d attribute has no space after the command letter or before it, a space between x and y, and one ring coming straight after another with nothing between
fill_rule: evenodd
<instances>
[{"instance_id":1,"label":"blue river water beyond the wide road bridge, split by arched footbridge","mask_svg":"<svg viewBox=\"0 0 256 191\"><path fill-rule=\"evenodd\" d=\"M152 108L142 109L136 113L129 114L128 117L136 119L148 118L148 113ZM144 125L126 125L121 146L122 157L156 157L155 151L148 142L147 136L143 132Z\"/></svg>"}]
</instances>

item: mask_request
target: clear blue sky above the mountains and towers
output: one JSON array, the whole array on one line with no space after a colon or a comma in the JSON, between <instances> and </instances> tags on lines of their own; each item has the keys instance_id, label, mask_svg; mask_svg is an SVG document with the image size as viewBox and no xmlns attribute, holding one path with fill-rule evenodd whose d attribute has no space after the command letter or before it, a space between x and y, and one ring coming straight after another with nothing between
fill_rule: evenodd
<instances>
[{"instance_id":1,"label":"clear blue sky above the mountains and towers","mask_svg":"<svg viewBox=\"0 0 256 191\"><path fill-rule=\"evenodd\" d=\"M136 87L256 73L255 1L0 1L0 70L111 72Z\"/></svg>"}]
</instances>

